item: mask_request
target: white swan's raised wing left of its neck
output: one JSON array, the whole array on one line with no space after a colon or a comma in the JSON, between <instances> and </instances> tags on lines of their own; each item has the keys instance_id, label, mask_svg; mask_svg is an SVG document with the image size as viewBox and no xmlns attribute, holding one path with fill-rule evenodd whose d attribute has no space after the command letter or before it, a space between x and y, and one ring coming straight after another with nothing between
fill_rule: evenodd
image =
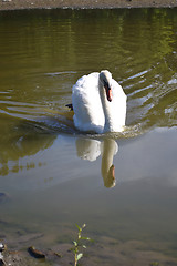
<instances>
[{"instance_id":1,"label":"white swan's raised wing left of its neck","mask_svg":"<svg viewBox=\"0 0 177 266\"><path fill-rule=\"evenodd\" d=\"M98 92L98 73L91 73L77 80L72 89L74 124L81 131L101 133L104 113Z\"/></svg>"}]
</instances>

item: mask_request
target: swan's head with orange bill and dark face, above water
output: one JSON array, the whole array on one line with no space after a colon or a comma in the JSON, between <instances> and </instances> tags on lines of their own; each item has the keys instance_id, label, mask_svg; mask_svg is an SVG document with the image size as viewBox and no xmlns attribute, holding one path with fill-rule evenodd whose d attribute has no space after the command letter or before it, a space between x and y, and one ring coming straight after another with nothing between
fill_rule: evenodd
<instances>
[{"instance_id":1,"label":"swan's head with orange bill and dark face, above water","mask_svg":"<svg viewBox=\"0 0 177 266\"><path fill-rule=\"evenodd\" d=\"M112 74L107 70L102 70L100 73L100 82L106 91L107 101L112 101Z\"/></svg>"}]
</instances>

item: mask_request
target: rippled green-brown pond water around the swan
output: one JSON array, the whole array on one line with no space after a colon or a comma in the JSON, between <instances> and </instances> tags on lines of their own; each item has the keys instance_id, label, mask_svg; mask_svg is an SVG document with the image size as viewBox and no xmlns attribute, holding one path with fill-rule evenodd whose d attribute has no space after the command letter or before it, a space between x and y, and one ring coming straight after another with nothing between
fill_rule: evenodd
<instances>
[{"instance_id":1,"label":"rippled green-brown pond water around the swan","mask_svg":"<svg viewBox=\"0 0 177 266\"><path fill-rule=\"evenodd\" d=\"M82 134L65 104L103 69L126 127ZM53 247L86 223L85 264L177 265L176 88L177 9L1 12L0 239Z\"/></svg>"}]
</instances>

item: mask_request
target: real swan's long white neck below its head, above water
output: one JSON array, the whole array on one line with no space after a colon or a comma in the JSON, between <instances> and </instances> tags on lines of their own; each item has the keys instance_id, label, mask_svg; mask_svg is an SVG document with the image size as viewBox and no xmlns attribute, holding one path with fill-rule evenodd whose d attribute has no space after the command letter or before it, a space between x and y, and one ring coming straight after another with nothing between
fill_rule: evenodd
<instances>
[{"instance_id":1,"label":"real swan's long white neck below its head, above water","mask_svg":"<svg viewBox=\"0 0 177 266\"><path fill-rule=\"evenodd\" d=\"M111 113L111 109L110 109L111 102L107 101L105 88L103 86L101 81L98 82L98 89L100 89L103 112L104 112L104 116L105 116L104 132L112 131L113 121L112 121L112 113Z\"/></svg>"}]
</instances>

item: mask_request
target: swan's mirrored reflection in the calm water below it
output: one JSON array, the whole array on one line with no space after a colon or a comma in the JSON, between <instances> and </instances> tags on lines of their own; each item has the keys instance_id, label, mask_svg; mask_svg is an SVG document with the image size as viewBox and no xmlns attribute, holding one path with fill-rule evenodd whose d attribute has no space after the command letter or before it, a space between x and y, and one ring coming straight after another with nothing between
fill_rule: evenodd
<instances>
[{"instance_id":1,"label":"swan's mirrored reflection in the calm water below it","mask_svg":"<svg viewBox=\"0 0 177 266\"><path fill-rule=\"evenodd\" d=\"M100 155L102 156L101 173L103 176L105 187L114 187L115 166L113 164L114 155L118 151L118 145L113 139L104 139L103 141L92 139L77 139L76 142L77 156L95 161Z\"/></svg>"}]
</instances>

